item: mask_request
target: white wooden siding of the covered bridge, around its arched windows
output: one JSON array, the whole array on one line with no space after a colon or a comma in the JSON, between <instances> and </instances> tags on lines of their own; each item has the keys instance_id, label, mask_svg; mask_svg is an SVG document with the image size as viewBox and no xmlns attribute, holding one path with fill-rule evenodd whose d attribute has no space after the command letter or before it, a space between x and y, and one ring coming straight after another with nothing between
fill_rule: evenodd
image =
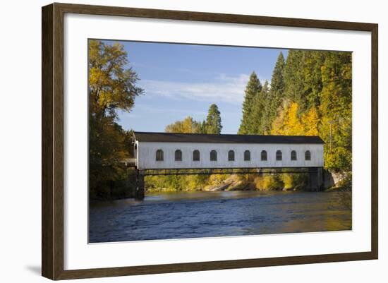
<instances>
[{"instance_id":1,"label":"white wooden siding of the covered bridge, around its arched windows","mask_svg":"<svg viewBox=\"0 0 388 283\"><path fill-rule=\"evenodd\" d=\"M288 143L174 143L135 141L136 167L143 169L215 169L215 168L269 168L269 167L323 167L323 144ZM163 161L156 161L157 150L163 150ZM182 161L175 161L175 151L182 151ZM193 161L193 150L200 151L200 161ZM217 151L217 161L210 161L210 151ZM228 160L229 150L234 150L234 161ZM250 151L250 161L244 160L245 150ZM261 160L262 150L267 151L267 161ZM281 150L282 159L276 160ZM291 160L291 151L296 160ZM305 160L309 150L310 160Z\"/></svg>"}]
</instances>

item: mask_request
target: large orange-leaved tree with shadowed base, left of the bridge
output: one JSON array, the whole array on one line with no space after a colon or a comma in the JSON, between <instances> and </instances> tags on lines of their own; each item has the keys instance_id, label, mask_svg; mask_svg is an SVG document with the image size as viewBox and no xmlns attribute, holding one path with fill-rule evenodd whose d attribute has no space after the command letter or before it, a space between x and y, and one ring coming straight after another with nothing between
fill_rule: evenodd
<instances>
[{"instance_id":1,"label":"large orange-leaved tree with shadowed base, left of the bridge","mask_svg":"<svg viewBox=\"0 0 388 283\"><path fill-rule=\"evenodd\" d=\"M130 112L143 89L135 85L138 75L121 44L90 40L88 51L90 195L110 198L109 183L123 178L121 164L131 154L117 112Z\"/></svg>"}]
</instances>

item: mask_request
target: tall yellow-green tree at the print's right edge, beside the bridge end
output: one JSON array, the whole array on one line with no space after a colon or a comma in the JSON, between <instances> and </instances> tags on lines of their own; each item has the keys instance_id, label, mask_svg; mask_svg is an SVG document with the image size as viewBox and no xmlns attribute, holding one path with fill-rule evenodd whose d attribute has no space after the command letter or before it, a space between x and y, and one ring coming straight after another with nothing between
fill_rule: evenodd
<instances>
[{"instance_id":1,"label":"tall yellow-green tree at the print's right edge, beside the bridge end","mask_svg":"<svg viewBox=\"0 0 388 283\"><path fill-rule=\"evenodd\" d=\"M321 71L320 136L327 142L325 167L332 171L351 171L351 53L327 52ZM332 150L329 150L330 125Z\"/></svg>"}]
</instances>

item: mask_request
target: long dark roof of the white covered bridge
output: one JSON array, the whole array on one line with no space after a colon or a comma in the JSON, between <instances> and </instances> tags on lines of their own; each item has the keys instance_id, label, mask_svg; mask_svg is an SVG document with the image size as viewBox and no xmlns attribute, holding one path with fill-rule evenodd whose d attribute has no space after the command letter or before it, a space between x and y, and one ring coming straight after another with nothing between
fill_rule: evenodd
<instances>
[{"instance_id":1,"label":"long dark roof of the white covered bridge","mask_svg":"<svg viewBox=\"0 0 388 283\"><path fill-rule=\"evenodd\" d=\"M154 143L325 143L319 136L258 136L134 132L134 138L140 142Z\"/></svg>"}]
</instances>

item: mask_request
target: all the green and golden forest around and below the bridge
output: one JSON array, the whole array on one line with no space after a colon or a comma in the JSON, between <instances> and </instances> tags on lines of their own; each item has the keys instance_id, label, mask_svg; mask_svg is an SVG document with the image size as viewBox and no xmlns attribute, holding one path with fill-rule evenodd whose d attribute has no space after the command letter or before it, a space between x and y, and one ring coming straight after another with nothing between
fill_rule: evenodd
<instances>
[{"instance_id":1,"label":"all the green and golden forest around and below the bridge","mask_svg":"<svg viewBox=\"0 0 388 283\"><path fill-rule=\"evenodd\" d=\"M131 157L131 131L119 125L117 113L130 112L135 97L146 90L137 87L137 73L126 67L121 44L90 40L89 54L90 198L131 197L131 172L121 162ZM270 82L250 74L238 134L318 135L325 141L325 169L341 176L339 186L351 189L351 66L351 52L289 50L286 59L280 52ZM211 104L203 121L187 116L165 131L219 134L221 113ZM288 190L303 189L305 177L148 176L145 186L147 191Z\"/></svg>"}]
</instances>

